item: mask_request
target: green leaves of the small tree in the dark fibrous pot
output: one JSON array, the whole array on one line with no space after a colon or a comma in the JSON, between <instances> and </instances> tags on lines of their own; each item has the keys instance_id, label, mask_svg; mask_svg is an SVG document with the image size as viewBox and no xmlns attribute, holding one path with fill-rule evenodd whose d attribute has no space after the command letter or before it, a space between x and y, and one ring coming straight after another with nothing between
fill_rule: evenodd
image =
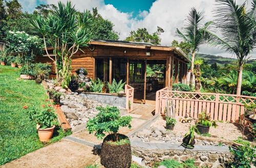
<instances>
[{"instance_id":1,"label":"green leaves of the small tree in the dark fibrous pot","mask_svg":"<svg viewBox=\"0 0 256 168\"><path fill-rule=\"evenodd\" d=\"M117 139L117 132L120 127L131 128L131 116L120 116L119 109L115 106L97 107L99 113L91 118L87 123L87 129L90 133L95 132L97 138L103 138L105 132L114 134L113 141Z\"/></svg>"}]
</instances>

